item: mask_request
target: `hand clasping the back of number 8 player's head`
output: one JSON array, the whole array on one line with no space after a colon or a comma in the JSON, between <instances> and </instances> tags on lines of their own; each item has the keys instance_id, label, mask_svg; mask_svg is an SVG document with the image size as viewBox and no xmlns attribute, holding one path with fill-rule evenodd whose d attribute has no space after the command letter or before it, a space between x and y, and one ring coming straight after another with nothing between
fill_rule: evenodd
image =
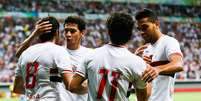
<instances>
[{"instance_id":1,"label":"hand clasping the back of number 8 player's head","mask_svg":"<svg viewBox=\"0 0 201 101\"><path fill-rule=\"evenodd\" d=\"M34 29L32 34L37 36L37 35L40 35L42 33L47 33L47 32L51 31L52 24L50 24L49 21L45 21L42 23L39 23L39 22L41 22L41 20L36 22L35 29Z\"/></svg>"}]
</instances>

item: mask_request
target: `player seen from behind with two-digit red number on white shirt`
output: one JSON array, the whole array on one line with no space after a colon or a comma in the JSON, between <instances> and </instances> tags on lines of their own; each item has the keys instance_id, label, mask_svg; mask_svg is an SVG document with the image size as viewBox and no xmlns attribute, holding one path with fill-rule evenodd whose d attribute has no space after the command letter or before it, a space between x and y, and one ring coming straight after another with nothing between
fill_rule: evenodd
<instances>
[{"instance_id":1,"label":"player seen from behind with two-digit red number on white shirt","mask_svg":"<svg viewBox=\"0 0 201 101\"><path fill-rule=\"evenodd\" d=\"M127 101L129 82L137 92L138 101L147 101L147 84L141 80L149 66L142 58L132 54L126 43L132 35L134 21L125 13L114 13L107 20L111 43L87 55L71 80L69 90L79 93L88 79L88 101Z\"/></svg>"}]
</instances>

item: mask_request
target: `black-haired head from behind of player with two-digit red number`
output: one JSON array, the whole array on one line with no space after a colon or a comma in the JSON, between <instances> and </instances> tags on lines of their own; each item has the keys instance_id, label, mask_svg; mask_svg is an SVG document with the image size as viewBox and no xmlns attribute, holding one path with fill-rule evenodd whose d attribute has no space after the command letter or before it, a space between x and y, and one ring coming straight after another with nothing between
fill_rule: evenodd
<instances>
[{"instance_id":1,"label":"black-haired head from behind of player with two-digit red number","mask_svg":"<svg viewBox=\"0 0 201 101\"><path fill-rule=\"evenodd\" d=\"M107 28L113 44L126 44L132 35L134 20L127 13L113 13L107 19Z\"/></svg>"}]
</instances>

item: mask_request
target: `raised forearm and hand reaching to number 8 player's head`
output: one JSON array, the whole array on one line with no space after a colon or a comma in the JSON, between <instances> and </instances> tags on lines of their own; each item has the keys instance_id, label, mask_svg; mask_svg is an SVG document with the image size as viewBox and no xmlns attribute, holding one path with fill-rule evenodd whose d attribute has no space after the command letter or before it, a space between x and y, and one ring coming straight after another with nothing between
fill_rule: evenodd
<instances>
[{"instance_id":1,"label":"raised forearm and hand reaching to number 8 player's head","mask_svg":"<svg viewBox=\"0 0 201 101\"><path fill-rule=\"evenodd\" d=\"M48 32L52 28L52 24L49 24L49 21L45 21L42 23L39 23L40 20L36 23L34 31L31 33L31 35L25 39L24 42L20 45L20 47L17 49L16 57L19 58L23 51L25 51L35 40L35 38L44 32Z\"/></svg>"}]
</instances>

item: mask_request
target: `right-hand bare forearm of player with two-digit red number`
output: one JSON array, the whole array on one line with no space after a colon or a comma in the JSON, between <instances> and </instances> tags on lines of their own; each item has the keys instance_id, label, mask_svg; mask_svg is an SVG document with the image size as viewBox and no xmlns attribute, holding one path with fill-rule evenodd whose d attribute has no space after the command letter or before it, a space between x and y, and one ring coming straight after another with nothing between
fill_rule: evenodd
<instances>
[{"instance_id":1,"label":"right-hand bare forearm of player with two-digit red number","mask_svg":"<svg viewBox=\"0 0 201 101\"><path fill-rule=\"evenodd\" d=\"M137 101L148 101L149 96L151 95L151 84L147 83L144 89L135 89Z\"/></svg>"}]
</instances>

